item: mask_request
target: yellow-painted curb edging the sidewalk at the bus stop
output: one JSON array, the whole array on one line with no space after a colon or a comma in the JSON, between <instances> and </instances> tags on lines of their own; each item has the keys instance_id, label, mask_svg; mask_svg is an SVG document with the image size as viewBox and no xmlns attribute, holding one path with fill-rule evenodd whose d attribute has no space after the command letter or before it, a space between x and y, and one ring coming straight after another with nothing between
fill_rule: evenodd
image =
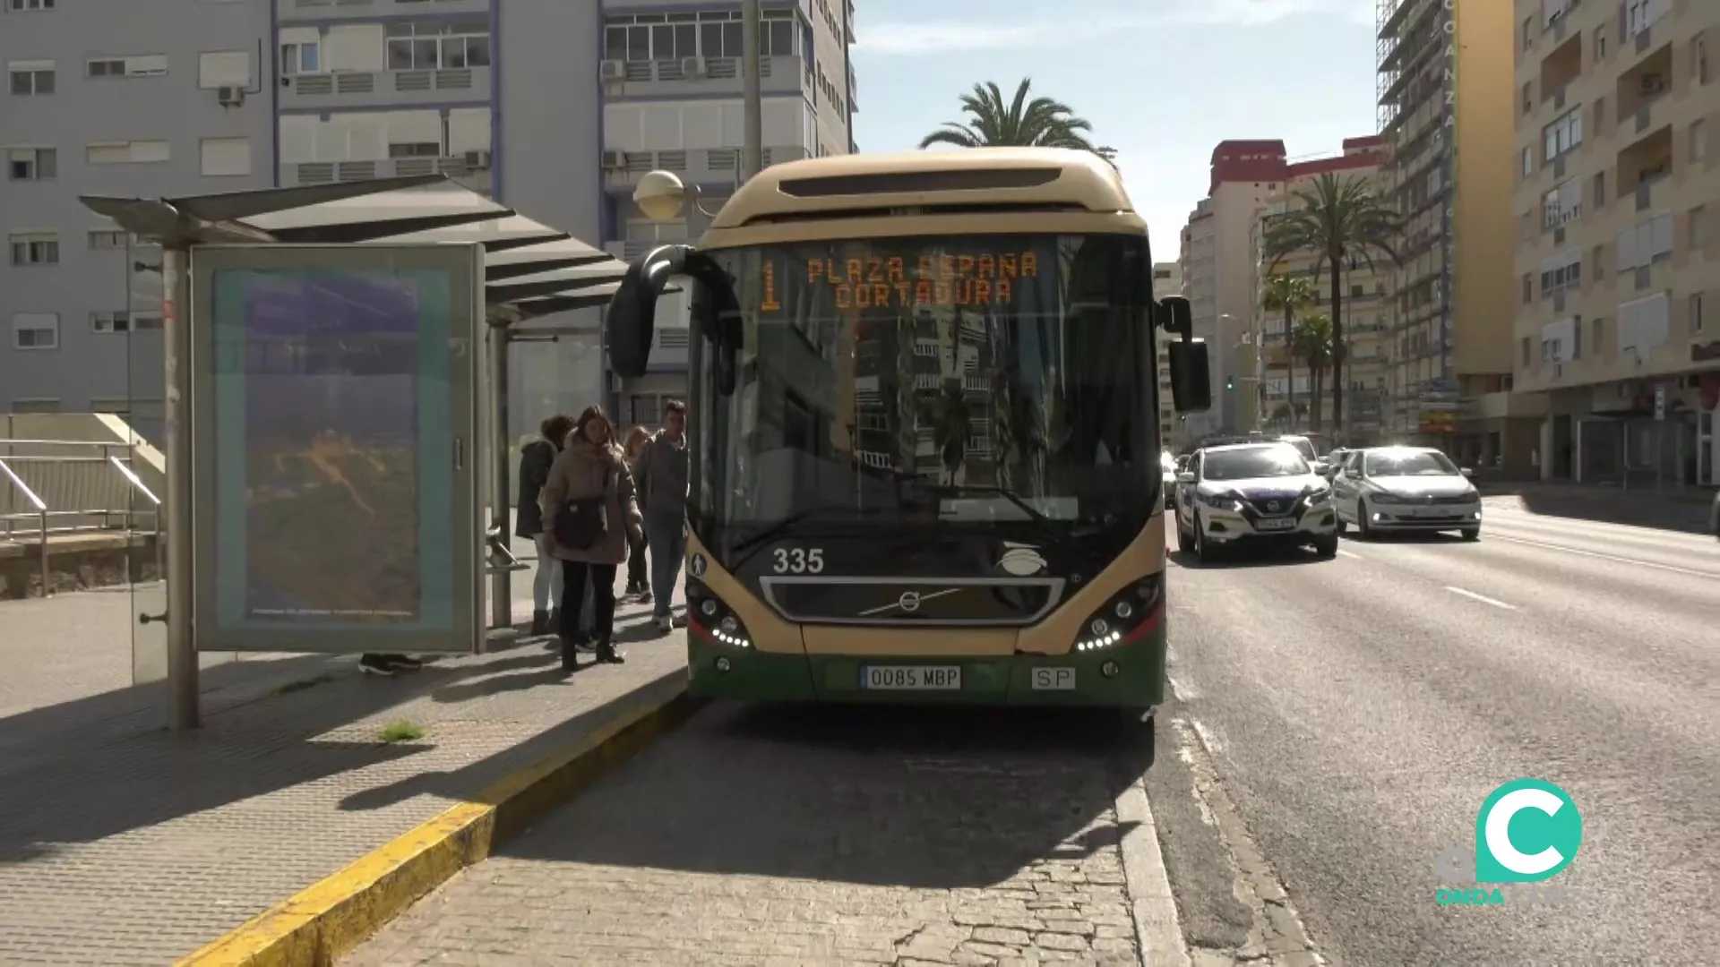
<instances>
[{"instance_id":1,"label":"yellow-painted curb edging the sidewalk at the bus stop","mask_svg":"<svg viewBox=\"0 0 1720 967\"><path fill-rule=\"evenodd\" d=\"M650 687L645 687L650 690ZM327 967L456 872L490 855L611 766L686 721L702 702L681 685L604 723L569 752L504 776L473 802L359 857L258 914L177 967Z\"/></svg>"}]
</instances>

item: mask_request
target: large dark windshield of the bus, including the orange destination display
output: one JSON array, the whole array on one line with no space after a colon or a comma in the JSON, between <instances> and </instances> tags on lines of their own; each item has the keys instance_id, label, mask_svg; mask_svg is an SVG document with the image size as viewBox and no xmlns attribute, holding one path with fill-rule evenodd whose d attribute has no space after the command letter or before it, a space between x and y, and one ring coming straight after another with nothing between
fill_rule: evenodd
<instances>
[{"instance_id":1,"label":"large dark windshield of the bus, including the orange destination display","mask_svg":"<svg viewBox=\"0 0 1720 967\"><path fill-rule=\"evenodd\" d=\"M745 532L789 518L1075 527L1154 506L1144 237L710 255L733 280L745 344L724 396L693 341L693 379L705 380L693 506L705 520Z\"/></svg>"}]
</instances>

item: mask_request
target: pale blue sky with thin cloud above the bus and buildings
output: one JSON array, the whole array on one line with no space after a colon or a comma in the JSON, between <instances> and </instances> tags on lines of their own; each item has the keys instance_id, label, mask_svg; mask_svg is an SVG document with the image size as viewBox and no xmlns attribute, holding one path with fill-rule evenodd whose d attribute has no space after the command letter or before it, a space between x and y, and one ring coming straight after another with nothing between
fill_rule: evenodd
<instances>
[{"instance_id":1,"label":"pale blue sky with thin cloud above the bus and buildings","mask_svg":"<svg viewBox=\"0 0 1720 967\"><path fill-rule=\"evenodd\" d=\"M1219 141L1318 157L1378 124L1374 0L857 0L855 36L862 151L913 150L975 83L1032 77L1116 148L1156 262Z\"/></svg>"}]
</instances>

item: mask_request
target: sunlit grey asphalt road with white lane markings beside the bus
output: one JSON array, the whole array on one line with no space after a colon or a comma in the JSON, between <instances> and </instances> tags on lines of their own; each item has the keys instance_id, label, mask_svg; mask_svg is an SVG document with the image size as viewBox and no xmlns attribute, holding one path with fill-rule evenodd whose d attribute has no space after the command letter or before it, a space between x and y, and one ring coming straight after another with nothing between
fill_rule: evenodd
<instances>
[{"instance_id":1,"label":"sunlit grey asphalt road with white lane markings beside the bus","mask_svg":"<svg viewBox=\"0 0 1720 967\"><path fill-rule=\"evenodd\" d=\"M1190 941L1238 943L1226 850L1176 804L1216 767L1335 962L1713 962L1720 542L1490 509L1477 544L1190 561L1170 585L1182 700L1147 790ZM1483 798L1524 776L1581 807L1570 902L1441 908L1434 855L1472 857Z\"/></svg>"}]
</instances>

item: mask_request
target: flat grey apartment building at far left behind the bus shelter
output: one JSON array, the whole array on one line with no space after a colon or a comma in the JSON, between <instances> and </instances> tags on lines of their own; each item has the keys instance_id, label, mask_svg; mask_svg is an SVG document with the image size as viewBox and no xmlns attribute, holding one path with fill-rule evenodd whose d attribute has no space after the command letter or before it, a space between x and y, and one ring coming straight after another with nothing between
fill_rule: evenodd
<instances>
[{"instance_id":1,"label":"flat grey apartment building at far left behind the bus shelter","mask_svg":"<svg viewBox=\"0 0 1720 967\"><path fill-rule=\"evenodd\" d=\"M158 432L160 253L77 196L272 186L268 7L0 0L0 408Z\"/></svg>"}]
</instances>

